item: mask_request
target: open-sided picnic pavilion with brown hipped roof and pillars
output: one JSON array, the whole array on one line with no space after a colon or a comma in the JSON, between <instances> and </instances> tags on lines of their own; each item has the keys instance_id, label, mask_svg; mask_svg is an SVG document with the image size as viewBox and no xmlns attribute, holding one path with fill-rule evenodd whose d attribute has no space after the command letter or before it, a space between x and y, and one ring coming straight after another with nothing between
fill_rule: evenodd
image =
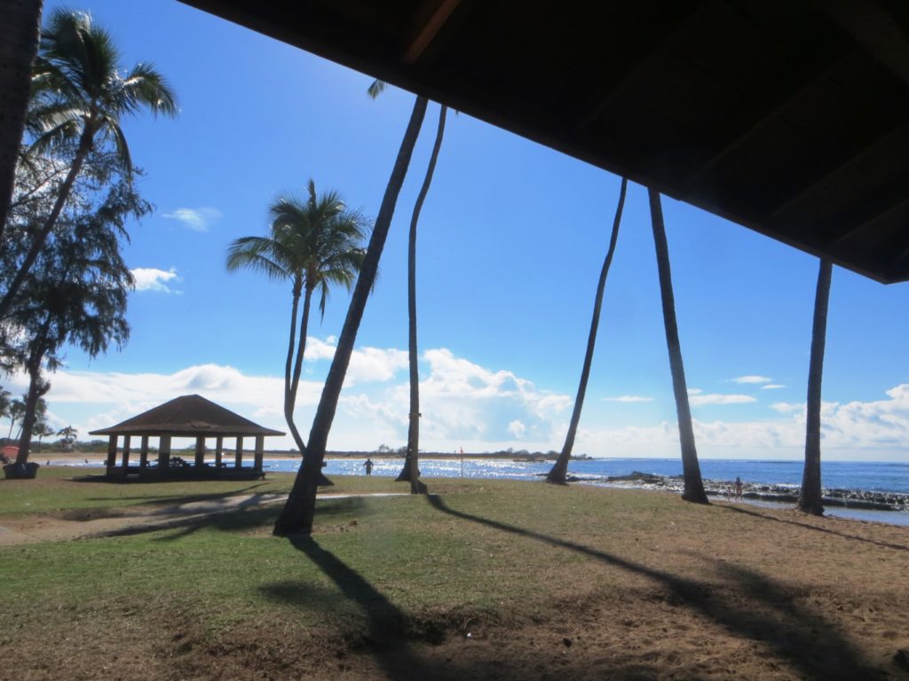
<instances>
[{"instance_id":1,"label":"open-sided picnic pavilion with brown hipped roof and pillars","mask_svg":"<svg viewBox=\"0 0 909 681\"><path fill-rule=\"evenodd\" d=\"M255 479L265 475L262 469L265 438L285 433L259 426L200 395L184 395L89 434L109 438L106 462L109 478L125 479L136 475L140 479ZM121 437L122 446L119 445ZM153 438L157 439L157 456L149 459ZM192 461L172 455L173 438L195 438ZM235 439L235 448L228 450L226 457L225 438ZM245 438L255 438L252 466L244 465ZM211 460L206 458L206 440L214 440ZM136 444L137 451L134 449ZM134 455L137 455L135 459Z\"/></svg>"}]
</instances>

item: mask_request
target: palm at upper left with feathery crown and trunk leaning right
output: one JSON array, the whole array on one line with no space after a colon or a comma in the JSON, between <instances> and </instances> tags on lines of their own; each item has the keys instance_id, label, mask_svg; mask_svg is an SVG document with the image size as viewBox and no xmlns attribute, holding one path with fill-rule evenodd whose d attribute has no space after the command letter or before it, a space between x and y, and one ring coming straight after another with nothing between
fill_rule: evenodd
<instances>
[{"instance_id":1,"label":"palm at upper left with feathery crown and trunk leaning right","mask_svg":"<svg viewBox=\"0 0 909 681\"><path fill-rule=\"evenodd\" d=\"M0 299L0 319L10 312L15 296L44 248L63 211L86 156L99 145L110 145L124 173L133 163L120 127L121 119L148 109L175 116L174 94L151 64L136 64L126 74L119 65L113 37L91 15L60 8L42 33L35 61L32 110L28 125L35 135L32 153L73 153L72 163L51 212L19 264Z\"/></svg>"}]
</instances>

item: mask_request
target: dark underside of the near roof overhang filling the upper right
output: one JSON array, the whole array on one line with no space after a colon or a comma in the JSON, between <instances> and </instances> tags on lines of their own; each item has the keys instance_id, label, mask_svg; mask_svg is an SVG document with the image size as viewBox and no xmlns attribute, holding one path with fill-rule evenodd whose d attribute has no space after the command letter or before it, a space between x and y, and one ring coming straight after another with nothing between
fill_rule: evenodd
<instances>
[{"instance_id":1,"label":"dark underside of the near roof overhang filling the upper right","mask_svg":"<svg viewBox=\"0 0 909 681\"><path fill-rule=\"evenodd\" d=\"M909 280L905 0L183 2Z\"/></svg>"}]
</instances>

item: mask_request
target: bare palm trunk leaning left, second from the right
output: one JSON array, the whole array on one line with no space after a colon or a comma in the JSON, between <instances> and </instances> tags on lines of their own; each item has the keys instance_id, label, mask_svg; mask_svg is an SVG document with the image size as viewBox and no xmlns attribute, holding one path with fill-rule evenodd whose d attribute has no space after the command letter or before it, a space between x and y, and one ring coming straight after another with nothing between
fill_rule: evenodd
<instances>
[{"instance_id":1,"label":"bare palm trunk leaning left, second from the right","mask_svg":"<svg viewBox=\"0 0 909 681\"><path fill-rule=\"evenodd\" d=\"M666 243L663 206L660 204L660 192L648 188L647 194L650 197L650 216L654 227L656 269L660 274L660 299L663 302L666 348L669 350L669 370L673 375L675 411L679 419L679 441L682 445L682 472L684 475L682 498L685 501L706 504L708 503L707 494L704 492L701 467L697 462L697 449L694 447L694 427L691 421L691 407L688 405L688 386L684 380L682 345L679 342L678 323L675 321L673 279L672 273L669 271L669 246Z\"/></svg>"}]
</instances>

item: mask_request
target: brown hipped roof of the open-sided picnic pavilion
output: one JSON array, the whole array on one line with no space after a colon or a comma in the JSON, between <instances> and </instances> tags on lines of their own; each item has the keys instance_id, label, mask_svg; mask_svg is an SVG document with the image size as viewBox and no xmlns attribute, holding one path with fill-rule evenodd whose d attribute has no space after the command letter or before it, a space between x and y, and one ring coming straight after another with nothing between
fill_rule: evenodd
<instances>
[{"instance_id":1,"label":"brown hipped roof of the open-sided picnic pavilion","mask_svg":"<svg viewBox=\"0 0 909 681\"><path fill-rule=\"evenodd\" d=\"M89 435L198 435L236 437L284 435L264 428L201 395L184 395L126 419L110 428L92 430Z\"/></svg>"}]
</instances>

